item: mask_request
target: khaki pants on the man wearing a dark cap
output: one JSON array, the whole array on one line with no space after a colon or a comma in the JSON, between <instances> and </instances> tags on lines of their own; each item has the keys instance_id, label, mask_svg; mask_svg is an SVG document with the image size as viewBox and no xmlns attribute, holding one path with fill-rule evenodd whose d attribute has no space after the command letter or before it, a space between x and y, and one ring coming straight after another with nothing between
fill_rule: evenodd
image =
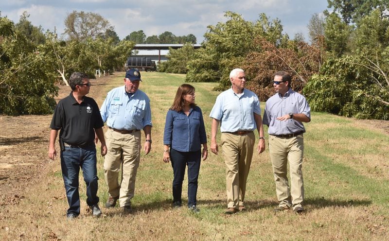
<instances>
[{"instance_id":1,"label":"khaki pants on the man wearing a dark cap","mask_svg":"<svg viewBox=\"0 0 389 241\"><path fill-rule=\"evenodd\" d=\"M119 198L120 207L131 206L134 197L135 179L141 159L141 132L121 134L112 129L106 131L107 154L104 175L111 197ZM122 167L122 181L118 177Z\"/></svg>"}]
</instances>

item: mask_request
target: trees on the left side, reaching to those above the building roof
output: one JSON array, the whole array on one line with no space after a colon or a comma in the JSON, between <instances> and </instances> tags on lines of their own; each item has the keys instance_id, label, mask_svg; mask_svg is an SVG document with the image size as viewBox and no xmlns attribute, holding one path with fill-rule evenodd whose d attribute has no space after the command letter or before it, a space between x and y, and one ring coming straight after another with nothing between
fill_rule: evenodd
<instances>
[{"instance_id":1,"label":"trees on the left side, reaching to those above the building roof","mask_svg":"<svg viewBox=\"0 0 389 241\"><path fill-rule=\"evenodd\" d=\"M73 11L64 20L62 35L34 26L24 12L18 23L0 13L0 114L48 114L55 107L57 83L81 71L95 78L96 69L112 73L138 43L138 31L120 40L113 26L99 14ZM143 34L144 35L144 34ZM193 34L164 32L144 38L148 43L196 42Z\"/></svg>"}]
</instances>

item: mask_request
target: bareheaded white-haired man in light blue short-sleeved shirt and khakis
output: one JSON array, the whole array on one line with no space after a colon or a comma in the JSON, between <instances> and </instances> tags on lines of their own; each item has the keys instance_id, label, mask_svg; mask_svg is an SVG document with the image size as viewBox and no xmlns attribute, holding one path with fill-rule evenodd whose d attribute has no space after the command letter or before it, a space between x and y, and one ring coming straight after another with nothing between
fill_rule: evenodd
<instances>
[{"instance_id":1,"label":"bareheaded white-haired man in light blue short-sleeved shirt and khakis","mask_svg":"<svg viewBox=\"0 0 389 241\"><path fill-rule=\"evenodd\" d=\"M258 96L245 89L246 75L242 69L230 72L231 88L219 94L210 117L211 151L218 154L216 142L220 123L221 142L226 163L227 205L226 214L245 211L246 183L255 144L254 130L258 130L258 154L265 151L264 127Z\"/></svg>"}]
</instances>

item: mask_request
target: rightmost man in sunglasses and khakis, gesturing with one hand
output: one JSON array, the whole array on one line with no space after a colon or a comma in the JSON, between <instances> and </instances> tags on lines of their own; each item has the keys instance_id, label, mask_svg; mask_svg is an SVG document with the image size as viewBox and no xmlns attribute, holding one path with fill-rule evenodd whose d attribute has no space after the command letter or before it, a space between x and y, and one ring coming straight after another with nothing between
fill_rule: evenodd
<instances>
[{"instance_id":1,"label":"rightmost man in sunglasses and khakis, gesturing with one hand","mask_svg":"<svg viewBox=\"0 0 389 241\"><path fill-rule=\"evenodd\" d=\"M264 124L269 126L269 154L273 167L279 207L275 211L304 212L304 182L302 179L302 156L305 132L302 122L311 121L311 109L305 97L290 87L292 78L285 71L274 75L276 94L266 101ZM291 187L287 178L289 160ZM291 191L290 191L291 189Z\"/></svg>"}]
</instances>

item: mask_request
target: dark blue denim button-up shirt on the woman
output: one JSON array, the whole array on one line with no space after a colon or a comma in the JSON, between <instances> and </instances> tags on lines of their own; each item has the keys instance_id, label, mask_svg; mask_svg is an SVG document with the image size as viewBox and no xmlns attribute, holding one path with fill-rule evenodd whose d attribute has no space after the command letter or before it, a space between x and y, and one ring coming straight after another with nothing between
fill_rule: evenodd
<instances>
[{"instance_id":1,"label":"dark blue denim button-up shirt on the woman","mask_svg":"<svg viewBox=\"0 0 389 241\"><path fill-rule=\"evenodd\" d=\"M164 145L180 152L195 152L201 149L203 143L207 143L207 136L200 107L191 108L189 116L182 111L167 112Z\"/></svg>"}]
</instances>

